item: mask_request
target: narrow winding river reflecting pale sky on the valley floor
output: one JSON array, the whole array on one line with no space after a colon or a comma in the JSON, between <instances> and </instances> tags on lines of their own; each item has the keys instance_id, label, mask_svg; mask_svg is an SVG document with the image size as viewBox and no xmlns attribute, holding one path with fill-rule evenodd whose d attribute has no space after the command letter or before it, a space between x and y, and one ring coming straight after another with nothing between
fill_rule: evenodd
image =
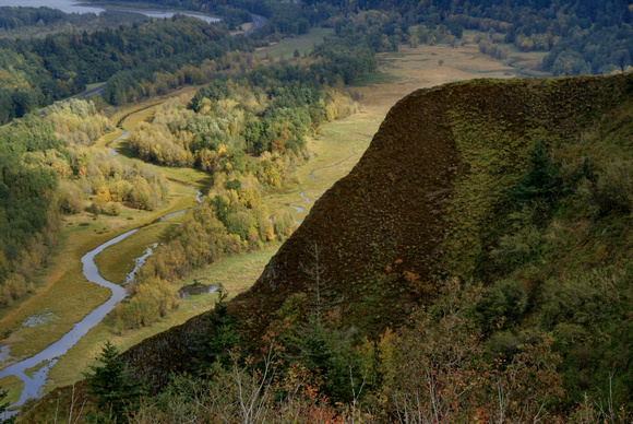
<instances>
[{"instance_id":1,"label":"narrow winding river reflecting pale sky on the valley floor","mask_svg":"<svg viewBox=\"0 0 633 424\"><path fill-rule=\"evenodd\" d=\"M126 137L128 137L128 134L129 134L129 131L126 130L123 136L119 137L117 140L126 138ZM115 141L117 141L117 140L115 140ZM108 149L110 149L110 151L114 152L112 153L114 155L117 154L117 152L115 150L112 150L111 148L108 148ZM195 200L198 200L199 204L202 203L202 192L200 190L198 190L198 192L195 195ZM189 211L190 209L191 208L183 209L183 210L177 211L177 212L168 213L168 214L157 219L152 224L160 223L166 217L174 216L176 214ZM44 384L46 382L46 378L48 376L48 372L57 363L58 358L60 356L64 355L93 327L98 325L106 317L106 315L108 315L108 313L115 308L115 306L117 306L122 299L126 298L126 290L121 285L115 284L115 283L104 279L99 274L99 270L95 263L95 257L98 254L100 254L101 251L104 251L104 249L106 249L112 245L116 245L117 243L128 238L129 236L136 233L138 231L139 231L139 228L134 228L134 229L131 229L127 233L123 233L115 238L111 238L110 240L104 243L103 245L100 245L96 249L88 251L87 254L85 254L81 258L81 261L83 264L82 273L84 274L86 280L88 280L92 283L98 284L101 287L106 287L106 288L110 290L112 292L112 294L110 295L110 298L108 301L106 301L106 303L96 307L92 313L86 315L81 321L75 323L74 327L69 332L67 332L60 340L52 343L51 345L49 345L48 348L46 348L45 350L43 350L38 354L31 356L24 361L19 362L19 363L15 363L11 366L8 366L7 368L4 368L0 372L0 378L7 377L7 376L15 376L24 382L24 388L22 390L22 393L20 394L20 399L17 400L17 402L13 403L10 408L13 409L15 407L21 407L22 404L24 404L24 402L26 400L40 397L43 388L44 388ZM153 252L152 247L148 247L147 250L143 254L143 256L141 256L140 258L136 258L134 260L135 267L132 270L132 272L130 272L128 274L126 282L129 282L133 279L136 270L145 262L145 259L147 259L152 255L152 252ZM39 368L32 376L28 376L26 374L26 370L34 368L36 366L39 366ZM17 413L16 410L10 412L9 414L15 414L15 413Z\"/></svg>"}]
</instances>

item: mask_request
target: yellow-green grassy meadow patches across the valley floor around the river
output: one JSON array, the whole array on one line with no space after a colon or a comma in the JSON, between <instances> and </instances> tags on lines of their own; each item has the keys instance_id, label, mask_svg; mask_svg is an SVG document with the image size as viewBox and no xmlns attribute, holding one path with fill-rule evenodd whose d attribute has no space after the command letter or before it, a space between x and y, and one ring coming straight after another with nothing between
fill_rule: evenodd
<instances>
[{"instance_id":1,"label":"yellow-green grassy meadow patches across the valley floor around the river","mask_svg":"<svg viewBox=\"0 0 633 424\"><path fill-rule=\"evenodd\" d=\"M295 49L301 55L310 51L331 30L313 30L309 35L285 39L271 47L260 49L258 58L274 57L290 59ZM280 193L271 193L264 201L271 213L288 211L296 221L302 220L320 197L336 180L344 177L358 163L371 138L378 131L389 109L408 93L434 85L475 78L515 78L527 74L539 63L542 55L512 51L506 61L499 61L480 54L471 39L473 33L465 33L465 45L453 48L441 44L410 48L402 46L399 51L379 54L379 72L347 90L359 102L359 113L321 127L320 133L311 142L312 158L302 164L296 173L296 182L285 187ZM507 63L512 63L510 66ZM535 71L536 72L536 71ZM123 127L133 131L140 122L152 117L156 105L172 96L193 96L198 87L189 86L170 95L156 97L138 105L112 111L112 122L124 118ZM107 145L122 133L121 130L104 136L100 145ZM131 155L126 141L111 145L120 153L122 161ZM119 216L81 213L64 217L64 228L58 246L36 283L35 294L24 302L0 310L2 344L10 346L10 355L15 360L27 357L61 338L87 313L109 297L109 291L88 283L81 274L80 258L88 250L128 229L152 223L157 217L195 205L191 186L208 187L211 177L195 169L160 167L170 185L169 202L160 209L146 212L123 208ZM303 193L310 201L301 196ZM297 213L290 204L301 207ZM178 216L168 222L147 225L134 235L101 252L96 262L101 274L114 282L121 282L133 268L134 258L141 256L148 245L168 237L171 225L177 225ZM178 285L201 281L204 284L222 284L232 296L246 291L256 280L278 244L263 251L239 255L224 259L213 266L198 270ZM93 328L68 354L51 368L46 390L68 385L82 378L82 372L91 364L107 340L126 350L157 332L212 308L217 294L191 296L182 299L178 309L151 328L118 333L115 322L108 317ZM23 325L29 317L45 315L40 325ZM8 364L14 362L10 360ZM10 400L16 398L21 381L2 379L3 388L12 389Z\"/></svg>"}]
</instances>

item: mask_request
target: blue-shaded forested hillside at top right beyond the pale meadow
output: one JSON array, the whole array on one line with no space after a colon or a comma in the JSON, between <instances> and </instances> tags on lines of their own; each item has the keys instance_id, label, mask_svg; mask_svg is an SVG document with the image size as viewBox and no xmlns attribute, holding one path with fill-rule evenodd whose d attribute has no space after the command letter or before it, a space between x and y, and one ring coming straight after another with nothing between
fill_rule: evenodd
<instances>
[{"instance_id":1,"label":"blue-shaded forested hillside at top right beyond the pale meadow","mask_svg":"<svg viewBox=\"0 0 633 424\"><path fill-rule=\"evenodd\" d=\"M332 8L336 8L345 13L345 17L336 17L343 23L350 22L350 12L380 10L383 13L374 16L380 32L398 43L411 37L417 43L419 36L408 30L419 24L431 30L446 26L457 38L462 30L479 30L489 33L492 45L505 42L522 51L547 51L544 70L554 75L607 74L633 66L633 9L625 0L301 3L311 15L318 11L316 15L332 16ZM494 46L481 47L492 51ZM507 52L497 55L504 58Z\"/></svg>"}]
</instances>

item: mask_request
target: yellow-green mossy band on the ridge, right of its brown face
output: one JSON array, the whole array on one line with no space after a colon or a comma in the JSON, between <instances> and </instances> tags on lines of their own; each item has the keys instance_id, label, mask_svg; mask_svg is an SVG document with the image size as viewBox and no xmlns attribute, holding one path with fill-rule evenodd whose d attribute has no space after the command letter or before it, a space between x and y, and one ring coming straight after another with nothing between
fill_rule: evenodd
<instances>
[{"instance_id":1,"label":"yellow-green mossy band on the ridge, right of its brown face","mask_svg":"<svg viewBox=\"0 0 633 424\"><path fill-rule=\"evenodd\" d=\"M511 209L507 190L528 165L528 152L537 139L556 154L569 150L604 114L619 109L633 78L577 78L550 80L478 80L451 86L449 116L465 173L454 182L447 208L450 231L443 242L447 273L473 275L482 255L492 249L488 235L495 231ZM625 109L629 110L629 109ZM630 111L617 113L611 138L631 140L625 123ZM600 120L601 119L601 120ZM630 148L630 141L619 141ZM612 143L607 150L618 149ZM593 148L596 150L596 146ZM574 157L583 156L575 152ZM601 152L604 155L605 152Z\"/></svg>"}]
</instances>

